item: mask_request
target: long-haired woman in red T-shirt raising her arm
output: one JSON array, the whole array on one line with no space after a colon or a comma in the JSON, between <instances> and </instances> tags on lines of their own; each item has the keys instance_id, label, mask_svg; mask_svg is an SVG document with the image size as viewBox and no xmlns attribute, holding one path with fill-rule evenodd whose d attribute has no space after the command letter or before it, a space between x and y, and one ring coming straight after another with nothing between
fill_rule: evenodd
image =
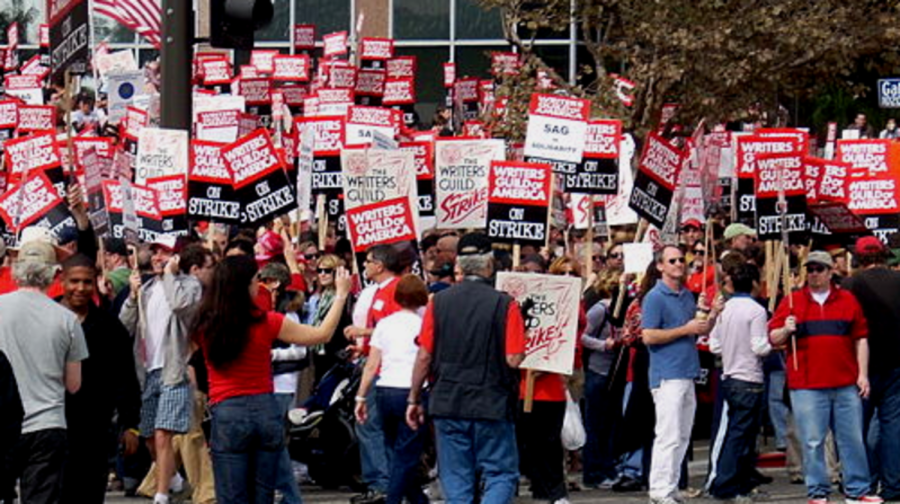
<instances>
[{"instance_id":1,"label":"long-haired woman in red T-shirt raising her arm","mask_svg":"<svg viewBox=\"0 0 900 504\"><path fill-rule=\"evenodd\" d=\"M275 339L315 345L331 339L350 277L340 269L331 309L318 327L297 324L253 302L259 291L252 257L226 257L204 292L193 335L209 371L213 473L220 504L262 504L275 499L284 419L272 388L270 351Z\"/></svg>"}]
</instances>

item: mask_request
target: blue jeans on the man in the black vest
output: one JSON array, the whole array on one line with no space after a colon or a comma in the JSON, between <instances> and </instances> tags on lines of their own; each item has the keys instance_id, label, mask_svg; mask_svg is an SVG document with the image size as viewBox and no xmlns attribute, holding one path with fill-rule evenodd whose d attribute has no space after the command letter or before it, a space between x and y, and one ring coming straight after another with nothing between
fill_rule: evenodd
<instances>
[{"instance_id":1,"label":"blue jeans on the man in the black vest","mask_svg":"<svg viewBox=\"0 0 900 504\"><path fill-rule=\"evenodd\" d=\"M519 455L512 422L436 418L434 428L447 504L475 502L476 474L484 484L482 504L513 500L519 486Z\"/></svg>"}]
</instances>

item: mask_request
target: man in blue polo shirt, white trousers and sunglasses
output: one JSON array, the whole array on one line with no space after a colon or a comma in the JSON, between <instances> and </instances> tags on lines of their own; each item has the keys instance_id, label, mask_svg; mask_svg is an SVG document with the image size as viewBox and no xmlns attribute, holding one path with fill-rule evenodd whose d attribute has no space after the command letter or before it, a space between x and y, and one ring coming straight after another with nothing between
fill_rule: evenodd
<instances>
[{"instance_id":1,"label":"man in blue polo shirt, white trousers and sunglasses","mask_svg":"<svg viewBox=\"0 0 900 504\"><path fill-rule=\"evenodd\" d=\"M650 352L650 389L656 409L656 439L650 464L651 504L676 504L681 461L694 426L694 379L700 373L695 337L706 334L717 311L695 318L694 297L682 285L684 254L674 245L656 253L662 279L641 304L641 337Z\"/></svg>"}]
</instances>

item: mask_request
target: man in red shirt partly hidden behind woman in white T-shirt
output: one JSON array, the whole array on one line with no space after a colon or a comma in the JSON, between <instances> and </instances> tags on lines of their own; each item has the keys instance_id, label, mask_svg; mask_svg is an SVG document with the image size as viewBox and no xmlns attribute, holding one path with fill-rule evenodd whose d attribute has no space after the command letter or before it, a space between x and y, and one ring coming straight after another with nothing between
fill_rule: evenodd
<instances>
[{"instance_id":1,"label":"man in red shirt partly hidden behind woman in white T-shirt","mask_svg":"<svg viewBox=\"0 0 900 504\"><path fill-rule=\"evenodd\" d=\"M372 337L378 322L401 310L400 305L394 300L394 293L402 271L400 254L394 246L375 245L366 253L365 276L378 285L378 290L372 298L372 305L366 316L366 327L349 326L344 329L344 336L355 340L356 347L363 354L368 354L369 338ZM366 423L357 425L356 434L359 436L362 478L368 491L354 497L354 503L378 502L386 494L390 481L381 415L375 401L375 387L371 388L367 399L368 419Z\"/></svg>"}]
</instances>

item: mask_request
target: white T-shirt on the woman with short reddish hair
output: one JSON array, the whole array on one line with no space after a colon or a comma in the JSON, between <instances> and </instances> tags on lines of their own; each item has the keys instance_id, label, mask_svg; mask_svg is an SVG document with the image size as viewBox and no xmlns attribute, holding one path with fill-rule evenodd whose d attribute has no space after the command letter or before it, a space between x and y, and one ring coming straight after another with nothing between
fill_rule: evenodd
<instances>
[{"instance_id":1,"label":"white T-shirt on the woman with short reddish hair","mask_svg":"<svg viewBox=\"0 0 900 504\"><path fill-rule=\"evenodd\" d=\"M422 317L400 310L378 322L372 333L372 346L381 351L379 387L410 388L412 370L419 346L416 338L422 330Z\"/></svg>"}]
</instances>

